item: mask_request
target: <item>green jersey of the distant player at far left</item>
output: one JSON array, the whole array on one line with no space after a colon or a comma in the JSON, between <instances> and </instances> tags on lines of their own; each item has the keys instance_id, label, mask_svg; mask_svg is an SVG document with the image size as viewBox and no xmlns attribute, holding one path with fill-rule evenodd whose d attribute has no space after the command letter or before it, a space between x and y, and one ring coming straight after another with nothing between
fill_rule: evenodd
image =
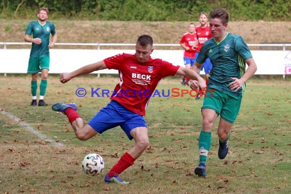
<instances>
[{"instance_id":1,"label":"green jersey of the distant player at far left","mask_svg":"<svg viewBox=\"0 0 291 194\"><path fill-rule=\"evenodd\" d=\"M41 25L38 20L31 21L26 29L26 34L33 38L40 38L41 44L32 43L30 57L46 57L50 56L48 44L50 43L50 36L56 34L55 25L53 22L46 21Z\"/></svg>"}]
</instances>

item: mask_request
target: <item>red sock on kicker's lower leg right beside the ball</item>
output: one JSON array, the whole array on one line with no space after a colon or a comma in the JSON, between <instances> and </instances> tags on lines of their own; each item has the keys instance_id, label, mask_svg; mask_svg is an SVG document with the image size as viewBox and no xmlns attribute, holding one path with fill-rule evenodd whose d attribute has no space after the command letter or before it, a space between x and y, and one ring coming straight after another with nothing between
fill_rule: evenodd
<instances>
[{"instance_id":1,"label":"red sock on kicker's lower leg right beside the ball","mask_svg":"<svg viewBox=\"0 0 291 194\"><path fill-rule=\"evenodd\" d=\"M119 161L111 168L108 173L108 177L113 177L114 175L119 175L124 172L126 168L133 165L135 159L129 154L125 153L122 157L120 157Z\"/></svg>"}]
</instances>

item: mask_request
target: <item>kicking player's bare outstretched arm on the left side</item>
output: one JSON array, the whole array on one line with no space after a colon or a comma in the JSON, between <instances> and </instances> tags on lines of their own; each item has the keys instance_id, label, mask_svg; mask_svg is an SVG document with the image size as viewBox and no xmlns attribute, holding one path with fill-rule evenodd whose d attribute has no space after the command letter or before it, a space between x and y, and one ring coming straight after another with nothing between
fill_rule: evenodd
<instances>
[{"instance_id":1,"label":"kicking player's bare outstretched arm on the left side","mask_svg":"<svg viewBox=\"0 0 291 194\"><path fill-rule=\"evenodd\" d=\"M93 71L106 69L106 68L107 66L105 65L103 60L96 63L92 63L89 65L83 66L75 71L60 74L60 82L64 84L75 77L90 74Z\"/></svg>"}]
</instances>

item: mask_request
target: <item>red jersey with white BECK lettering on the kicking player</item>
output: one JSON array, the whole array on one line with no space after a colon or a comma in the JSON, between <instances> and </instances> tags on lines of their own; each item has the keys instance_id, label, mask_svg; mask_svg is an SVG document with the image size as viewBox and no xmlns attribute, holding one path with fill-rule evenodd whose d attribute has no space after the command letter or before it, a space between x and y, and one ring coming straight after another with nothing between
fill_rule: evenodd
<instances>
[{"instance_id":1,"label":"red jersey with white BECK lettering on the kicking player","mask_svg":"<svg viewBox=\"0 0 291 194\"><path fill-rule=\"evenodd\" d=\"M104 63L108 69L117 69L120 78L110 100L142 116L146 115L146 108L159 81L166 76L174 76L179 69L179 66L152 57L145 63L139 63L135 54L125 53L106 58Z\"/></svg>"}]
</instances>

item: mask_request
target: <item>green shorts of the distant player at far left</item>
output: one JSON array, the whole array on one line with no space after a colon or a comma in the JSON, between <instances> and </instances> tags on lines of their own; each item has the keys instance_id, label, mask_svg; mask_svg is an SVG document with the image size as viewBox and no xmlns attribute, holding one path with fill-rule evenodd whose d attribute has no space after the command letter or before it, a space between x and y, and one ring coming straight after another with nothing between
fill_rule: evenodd
<instances>
[{"instance_id":1,"label":"green shorts of the distant player at far left","mask_svg":"<svg viewBox=\"0 0 291 194\"><path fill-rule=\"evenodd\" d=\"M28 74L36 74L42 69L50 70L50 57L30 57L28 62Z\"/></svg>"}]
</instances>

